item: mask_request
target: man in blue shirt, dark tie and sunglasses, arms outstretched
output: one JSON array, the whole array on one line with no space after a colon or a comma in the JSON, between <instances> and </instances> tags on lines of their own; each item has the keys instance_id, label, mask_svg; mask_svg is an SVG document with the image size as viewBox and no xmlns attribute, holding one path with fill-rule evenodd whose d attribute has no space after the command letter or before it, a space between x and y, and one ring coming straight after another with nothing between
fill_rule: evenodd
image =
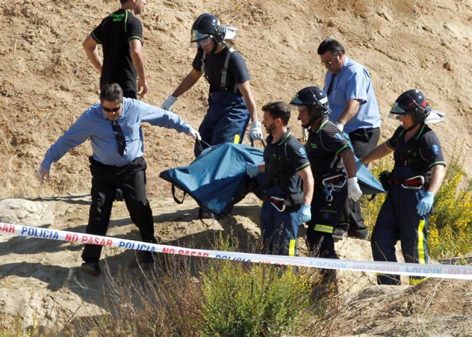
<instances>
[{"instance_id":1,"label":"man in blue shirt, dark tie and sunglasses, arms outstretched","mask_svg":"<svg viewBox=\"0 0 472 337\"><path fill-rule=\"evenodd\" d=\"M123 197L131 220L138 226L144 242L156 243L152 211L146 195L146 168L141 123L175 129L200 140L199 133L177 114L142 101L123 98L119 84L106 84L100 92L100 103L83 112L77 121L51 145L44 156L37 176L41 183L49 179L52 163L59 161L70 149L91 140L89 157L92 174L91 205L86 233L106 235L115 190ZM87 244L82 253L82 270L100 275L98 261L102 246ZM152 263L150 252L144 263Z\"/></svg>"}]
</instances>

